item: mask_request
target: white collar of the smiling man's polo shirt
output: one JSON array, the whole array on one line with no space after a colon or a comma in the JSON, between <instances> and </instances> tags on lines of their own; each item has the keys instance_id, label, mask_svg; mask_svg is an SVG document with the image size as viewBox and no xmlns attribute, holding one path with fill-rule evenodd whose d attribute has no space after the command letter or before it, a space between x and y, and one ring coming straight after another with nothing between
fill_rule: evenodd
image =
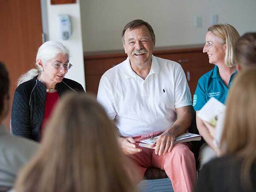
<instances>
[{"instance_id":1,"label":"white collar of the smiling man's polo shirt","mask_svg":"<svg viewBox=\"0 0 256 192\"><path fill-rule=\"evenodd\" d=\"M151 75L151 74L154 74L154 73L159 73L159 72L160 72L160 67L159 67L159 64L157 62L157 59L154 55L152 55L151 56L151 69L150 69L148 75ZM131 68L129 57L127 57L126 60L125 60L124 76L125 76L126 79L137 77L137 74Z\"/></svg>"}]
</instances>

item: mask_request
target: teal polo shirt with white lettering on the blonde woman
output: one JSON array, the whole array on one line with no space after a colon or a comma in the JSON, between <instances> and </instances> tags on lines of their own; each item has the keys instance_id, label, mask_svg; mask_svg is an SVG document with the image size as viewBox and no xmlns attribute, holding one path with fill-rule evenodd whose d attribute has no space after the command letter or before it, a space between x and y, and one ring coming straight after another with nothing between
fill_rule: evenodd
<instances>
[{"instance_id":1,"label":"teal polo shirt with white lettering on the blonde woman","mask_svg":"<svg viewBox=\"0 0 256 192\"><path fill-rule=\"evenodd\" d=\"M215 99L218 99L218 101L225 103L228 90L236 73L237 71L231 75L228 87L224 84L221 77L219 76L217 65L215 65L212 70L201 76L201 78L198 80L198 85L193 96L193 107L195 111L201 110L204 104L211 97L214 97Z\"/></svg>"}]
</instances>

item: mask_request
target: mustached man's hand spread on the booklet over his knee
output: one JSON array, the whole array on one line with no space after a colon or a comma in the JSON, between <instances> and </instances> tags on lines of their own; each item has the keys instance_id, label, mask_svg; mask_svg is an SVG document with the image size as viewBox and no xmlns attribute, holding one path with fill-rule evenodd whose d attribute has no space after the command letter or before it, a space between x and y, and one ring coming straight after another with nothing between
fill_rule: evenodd
<instances>
[{"instance_id":1,"label":"mustached man's hand spread on the booklet over his knee","mask_svg":"<svg viewBox=\"0 0 256 192\"><path fill-rule=\"evenodd\" d=\"M172 151L174 141L175 137L172 134L170 134L169 132L164 132L150 147L156 146L155 154L161 156L162 154L165 155L167 152Z\"/></svg>"}]
</instances>

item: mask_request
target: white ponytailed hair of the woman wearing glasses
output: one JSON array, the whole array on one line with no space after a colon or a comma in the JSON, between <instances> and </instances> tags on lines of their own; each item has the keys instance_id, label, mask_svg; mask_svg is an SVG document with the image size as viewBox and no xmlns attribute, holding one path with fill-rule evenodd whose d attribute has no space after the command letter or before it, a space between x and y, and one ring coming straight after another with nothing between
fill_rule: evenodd
<instances>
[{"instance_id":1,"label":"white ponytailed hair of the woman wearing glasses","mask_svg":"<svg viewBox=\"0 0 256 192\"><path fill-rule=\"evenodd\" d=\"M40 67L37 62L38 59L41 59L41 61L45 63L46 61L55 58L59 53L70 56L69 50L58 41L47 41L44 44L42 44L39 47L36 55L36 68L31 69L26 73L22 74L17 81L17 86L19 86L23 82L33 79L35 76L38 76L41 73Z\"/></svg>"}]
</instances>

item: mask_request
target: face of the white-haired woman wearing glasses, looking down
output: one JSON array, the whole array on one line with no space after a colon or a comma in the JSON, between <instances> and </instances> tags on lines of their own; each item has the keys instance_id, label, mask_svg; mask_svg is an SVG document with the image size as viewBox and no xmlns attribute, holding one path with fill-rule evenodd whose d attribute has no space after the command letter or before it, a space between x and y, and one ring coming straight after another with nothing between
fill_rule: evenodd
<instances>
[{"instance_id":1,"label":"face of the white-haired woman wearing glasses, looking down","mask_svg":"<svg viewBox=\"0 0 256 192\"><path fill-rule=\"evenodd\" d=\"M45 63L39 61L38 64L44 68L44 71L41 73L41 78L43 78L47 84L60 83L65 77L67 69L62 67L61 69L56 70L53 64L67 64L68 62L68 55L62 53L59 53L55 58L49 59Z\"/></svg>"}]
</instances>

